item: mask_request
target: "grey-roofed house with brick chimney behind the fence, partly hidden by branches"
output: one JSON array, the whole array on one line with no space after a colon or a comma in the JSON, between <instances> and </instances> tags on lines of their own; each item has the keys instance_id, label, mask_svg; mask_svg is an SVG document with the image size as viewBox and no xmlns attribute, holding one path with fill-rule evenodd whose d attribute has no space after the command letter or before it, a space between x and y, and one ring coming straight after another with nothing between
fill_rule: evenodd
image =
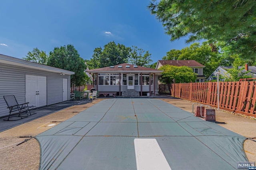
<instances>
[{"instance_id":1,"label":"grey-roofed house with brick chimney behind the fence, partly hidden by branches","mask_svg":"<svg viewBox=\"0 0 256 170\"><path fill-rule=\"evenodd\" d=\"M238 66L238 69L241 69L243 66ZM255 66L248 66L248 64L245 64L245 69L242 70L242 73L245 73L246 71L249 71L249 73L247 73L247 75L252 75L253 78L256 77L256 67ZM217 79L217 75L216 73L220 72L220 75L222 75L222 77L228 76L228 69L232 69L232 66L219 66L211 75L210 77L208 77L208 81L210 80L216 80ZM224 78L220 78L220 81L225 81Z\"/></svg>"}]
</instances>

